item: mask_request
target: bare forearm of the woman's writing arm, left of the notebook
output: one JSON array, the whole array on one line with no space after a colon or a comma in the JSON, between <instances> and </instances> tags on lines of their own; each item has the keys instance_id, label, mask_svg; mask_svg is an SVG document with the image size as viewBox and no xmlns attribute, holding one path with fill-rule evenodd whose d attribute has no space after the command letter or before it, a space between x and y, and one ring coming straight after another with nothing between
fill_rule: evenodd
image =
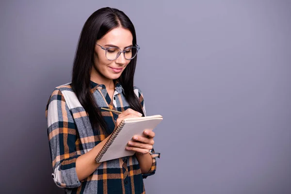
<instances>
[{"instance_id":1,"label":"bare forearm of the woman's writing arm, left of the notebook","mask_svg":"<svg viewBox=\"0 0 291 194\"><path fill-rule=\"evenodd\" d=\"M95 158L102 149L102 147L105 145L109 137L110 135L93 149L77 158L76 172L80 181L89 177L101 164L101 162L96 163Z\"/></svg>"}]
</instances>

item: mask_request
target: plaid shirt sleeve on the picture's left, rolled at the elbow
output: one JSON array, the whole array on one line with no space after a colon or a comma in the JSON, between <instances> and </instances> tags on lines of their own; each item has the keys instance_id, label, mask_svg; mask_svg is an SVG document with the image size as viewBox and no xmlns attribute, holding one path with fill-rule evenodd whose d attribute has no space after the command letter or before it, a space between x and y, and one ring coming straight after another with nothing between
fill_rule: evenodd
<instances>
[{"instance_id":1,"label":"plaid shirt sleeve on the picture's left, rolled at the elbow","mask_svg":"<svg viewBox=\"0 0 291 194\"><path fill-rule=\"evenodd\" d=\"M59 89L55 89L46 107L52 178L57 186L75 188L81 185L76 173L76 125Z\"/></svg>"}]
</instances>

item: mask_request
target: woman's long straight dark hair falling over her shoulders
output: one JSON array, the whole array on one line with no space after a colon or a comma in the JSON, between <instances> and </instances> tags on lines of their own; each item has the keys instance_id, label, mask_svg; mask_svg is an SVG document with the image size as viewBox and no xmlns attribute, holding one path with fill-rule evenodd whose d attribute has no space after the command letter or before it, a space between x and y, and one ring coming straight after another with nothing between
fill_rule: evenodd
<instances>
[{"instance_id":1,"label":"woman's long straight dark hair falling over her shoulders","mask_svg":"<svg viewBox=\"0 0 291 194\"><path fill-rule=\"evenodd\" d=\"M97 103L95 102L95 98L91 93L90 74L91 68L94 65L94 49L96 41L102 38L107 32L117 27L128 29L133 36L132 45L136 44L134 26L129 17L122 11L106 7L94 12L83 26L72 72L72 89L76 93L81 105L88 113L92 129L97 131L100 129L105 133L109 133L108 127L101 115ZM133 91L133 77L136 60L137 56L129 62L121 76L118 78L118 81L124 89L125 97L130 108L143 113L139 99Z\"/></svg>"}]
</instances>

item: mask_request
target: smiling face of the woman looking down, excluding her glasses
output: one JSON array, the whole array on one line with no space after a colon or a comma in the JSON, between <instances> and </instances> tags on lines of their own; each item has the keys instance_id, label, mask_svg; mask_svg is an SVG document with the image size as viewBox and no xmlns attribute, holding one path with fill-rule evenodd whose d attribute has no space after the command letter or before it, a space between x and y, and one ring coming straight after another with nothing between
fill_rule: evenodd
<instances>
[{"instance_id":1,"label":"smiling face of the woman looking down, excluding her glasses","mask_svg":"<svg viewBox=\"0 0 291 194\"><path fill-rule=\"evenodd\" d=\"M123 50L132 46L132 39L133 37L129 30L115 28L97 40L96 43L104 48L118 47ZM124 54L121 53L117 59L110 61L105 56L105 50L98 45L95 45L94 68L92 68L91 76L96 77L101 82L119 78L130 60L125 59Z\"/></svg>"}]
</instances>

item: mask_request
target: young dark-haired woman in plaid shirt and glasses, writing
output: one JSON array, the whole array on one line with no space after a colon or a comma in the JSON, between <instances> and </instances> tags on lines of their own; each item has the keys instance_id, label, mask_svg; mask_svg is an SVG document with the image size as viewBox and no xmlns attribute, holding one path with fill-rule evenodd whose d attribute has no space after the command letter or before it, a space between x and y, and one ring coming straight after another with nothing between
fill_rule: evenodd
<instances>
[{"instance_id":1,"label":"young dark-haired woman in plaid shirt and glasses, writing","mask_svg":"<svg viewBox=\"0 0 291 194\"><path fill-rule=\"evenodd\" d=\"M52 178L68 194L144 194L143 178L155 173L160 154L150 130L129 141L135 155L95 162L124 118L145 116L143 94L133 86L139 49L122 11L101 8L83 26L72 81L55 88L46 108Z\"/></svg>"}]
</instances>

